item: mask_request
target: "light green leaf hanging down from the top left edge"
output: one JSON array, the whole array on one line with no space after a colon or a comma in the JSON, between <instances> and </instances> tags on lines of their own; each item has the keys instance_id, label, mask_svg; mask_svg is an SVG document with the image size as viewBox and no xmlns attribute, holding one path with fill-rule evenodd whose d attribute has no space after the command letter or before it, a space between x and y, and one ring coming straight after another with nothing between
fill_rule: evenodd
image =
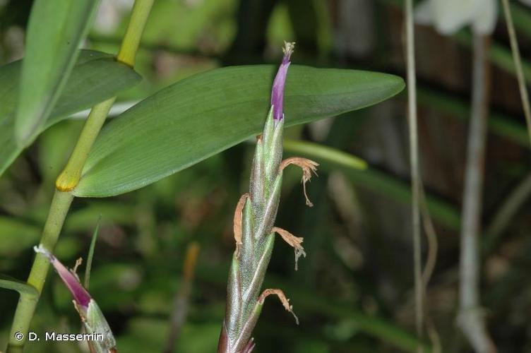
<instances>
[{"instance_id":1,"label":"light green leaf hanging down from the top left edge","mask_svg":"<svg viewBox=\"0 0 531 353\"><path fill-rule=\"evenodd\" d=\"M100 1L35 0L30 13L15 121L24 146L61 95Z\"/></svg>"}]
</instances>

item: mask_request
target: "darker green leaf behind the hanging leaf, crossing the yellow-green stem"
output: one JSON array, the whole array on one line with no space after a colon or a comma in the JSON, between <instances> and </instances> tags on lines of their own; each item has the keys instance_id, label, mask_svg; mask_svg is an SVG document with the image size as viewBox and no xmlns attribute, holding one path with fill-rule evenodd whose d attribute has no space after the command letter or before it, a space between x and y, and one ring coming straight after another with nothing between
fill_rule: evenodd
<instances>
[{"instance_id":1,"label":"darker green leaf behind the hanging leaf, crossing the yellow-green stem","mask_svg":"<svg viewBox=\"0 0 531 353\"><path fill-rule=\"evenodd\" d=\"M141 80L132 68L120 64L114 56L82 50L52 114L26 141L26 145L20 146L16 143L13 130L21 66L21 61L14 61L0 67L0 175L23 148L30 145L46 128L69 114L114 97L117 92L130 88Z\"/></svg>"}]
</instances>

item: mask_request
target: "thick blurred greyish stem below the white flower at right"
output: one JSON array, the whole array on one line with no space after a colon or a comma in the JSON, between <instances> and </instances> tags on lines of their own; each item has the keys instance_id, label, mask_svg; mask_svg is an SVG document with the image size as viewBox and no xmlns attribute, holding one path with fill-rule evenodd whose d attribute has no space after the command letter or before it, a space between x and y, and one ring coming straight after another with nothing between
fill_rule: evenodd
<instances>
[{"instance_id":1,"label":"thick blurred greyish stem below the white flower at right","mask_svg":"<svg viewBox=\"0 0 531 353\"><path fill-rule=\"evenodd\" d=\"M489 75L487 49L489 38L475 35L472 73L472 116L468 133L463 219L459 273L458 324L470 345L478 353L496 352L479 304L479 233L482 214L482 186L487 116L489 111Z\"/></svg>"}]
</instances>

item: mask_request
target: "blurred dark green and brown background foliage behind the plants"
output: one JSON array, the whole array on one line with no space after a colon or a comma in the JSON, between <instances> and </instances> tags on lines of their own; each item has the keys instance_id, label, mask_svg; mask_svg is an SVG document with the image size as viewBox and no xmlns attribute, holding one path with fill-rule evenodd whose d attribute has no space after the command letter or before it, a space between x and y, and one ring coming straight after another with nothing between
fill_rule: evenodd
<instances>
[{"instance_id":1,"label":"blurred dark green and brown background foliage behind the plants","mask_svg":"<svg viewBox=\"0 0 531 353\"><path fill-rule=\"evenodd\" d=\"M0 0L1 64L23 56L31 3ZM85 47L116 53L131 4L102 0ZM297 42L297 64L403 76L401 4L157 0L138 53L136 69L143 83L121 94L118 105L129 107L169 83L210 68L276 63L282 40ZM531 9L513 4L513 11L530 80ZM484 170L482 303L500 352L531 352L531 203L526 201L531 160L503 21L494 33L489 58L493 87ZM455 327L455 313L470 61L466 30L441 37L417 26L420 156L439 247L426 306L445 352L468 352ZM265 114L257 112L256 119ZM27 277L54 179L82 124L83 114L78 114L49 128L1 177L0 273ZM286 134L290 140L362 157L369 167L359 169L330 155L314 157L322 164L309 186L314 208L304 207L299 172L285 173L277 223L304 237L308 256L294 272L292 249L278 241L266 285L285 290L301 324L295 325L275 300L268 301L255 332L256 352L414 351L405 95L289 128ZM287 143L286 155L299 155L300 147ZM305 150L315 155L315 146ZM85 258L101 217L90 292L121 352L162 352L192 242L201 251L186 301L189 315L174 352L215 351L234 250L232 215L248 186L252 151L253 144L244 143L139 191L74 201L56 256L70 266L76 258ZM516 204L512 193L520 196ZM4 347L18 294L1 290L0 295ZM32 330L80 330L70 294L55 274L48 277ZM86 347L30 342L27 351L83 352Z\"/></svg>"}]
</instances>

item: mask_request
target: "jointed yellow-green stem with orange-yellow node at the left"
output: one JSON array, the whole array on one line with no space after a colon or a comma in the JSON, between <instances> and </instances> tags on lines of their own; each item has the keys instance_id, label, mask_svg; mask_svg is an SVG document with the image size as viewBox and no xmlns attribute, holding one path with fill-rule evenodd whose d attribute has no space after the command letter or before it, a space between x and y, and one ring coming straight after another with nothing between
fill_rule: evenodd
<instances>
[{"instance_id":1,"label":"jointed yellow-green stem with orange-yellow node at the left","mask_svg":"<svg viewBox=\"0 0 531 353\"><path fill-rule=\"evenodd\" d=\"M153 1L154 0L135 1L131 20L117 56L117 59L124 64L129 66L134 65L138 44L140 43L145 23L148 20L151 7L153 6ZM112 107L115 99L116 98L111 98L93 107L64 171L61 172L57 178L56 191L54 193L54 198L52 199L52 205L50 206L48 218L44 224L44 230L40 241L40 244L50 251L53 251L55 248L66 214L68 213L73 200L73 195L69 191L75 188L78 184L90 148L92 148L97 134L100 133L100 129L107 118L109 109ZM48 270L49 261L47 261L42 254L37 254L31 268L30 276L28 277L28 284L35 287L39 294L44 287L44 281L46 280ZM20 295L15 317L13 318L7 353L23 352L23 347L30 328L30 322L38 300L39 296L29 296L28 294ZM17 333L22 333L23 338L17 340L16 337L20 337L19 335L16 335Z\"/></svg>"}]
</instances>

